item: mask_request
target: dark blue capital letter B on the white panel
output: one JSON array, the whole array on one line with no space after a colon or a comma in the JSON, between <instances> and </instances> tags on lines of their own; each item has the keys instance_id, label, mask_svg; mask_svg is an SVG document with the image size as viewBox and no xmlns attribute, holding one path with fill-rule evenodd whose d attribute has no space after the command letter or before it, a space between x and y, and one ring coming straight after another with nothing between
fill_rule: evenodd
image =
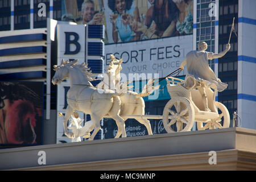
<instances>
[{"instance_id":1,"label":"dark blue capital letter B on the white panel","mask_svg":"<svg viewBox=\"0 0 256 182\"><path fill-rule=\"evenodd\" d=\"M81 46L78 42L79 35L76 32L64 32L65 33L65 53L64 55L75 55L79 53ZM74 37L73 40L71 40L71 37ZM76 46L76 49L71 51L71 44L74 44Z\"/></svg>"}]
</instances>

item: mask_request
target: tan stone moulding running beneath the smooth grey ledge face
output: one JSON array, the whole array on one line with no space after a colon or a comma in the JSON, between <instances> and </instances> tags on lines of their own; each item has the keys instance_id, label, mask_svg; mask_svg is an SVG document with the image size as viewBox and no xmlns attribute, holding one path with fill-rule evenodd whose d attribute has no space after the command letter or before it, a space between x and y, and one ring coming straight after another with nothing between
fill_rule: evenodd
<instances>
[{"instance_id":1,"label":"tan stone moulding running beneath the smooth grey ledge face","mask_svg":"<svg viewBox=\"0 0 256 182\"><path fill-rule=\"evenodd\" d=\"M256 164L256 152L248 152L245 150L231 149L216 151L218 156L218 167L225 166L241 166L251 169L249 166L255 166ZM243 158L242 158L243 157ZM246 158L247 157L247 158ZM249 158L248 158L249 157ZM39 166L39 167L29 167L29 168L19 168L15 170L107 170L107 171L117 171L117 170L145 170L150 168L152 170L158 170L158 168L175 168L177 170L183 170L192 168L196 166L207 165L209 159L208 152L197 152L189 154L174 154L174 155L162 155L162 156L150 156L142 158L129 158L129 159L114 159L114 160L99 160L95 162L81 162L81 163L70 163L70 164L58 164L51 166ZM248 159L254 159L253 162ZM173 162L173 163L170 163ZM117 168L119 166L119 168ZM138 169L137 167L142 167ZM212 166L214 169L214 166ZM216 166L217 167L217 166ZM87 168L87 169L86 169ZM99 168L99 169L97 169ZM195 168L196 169L196 168ZM203 168L202 168L203 169ZM210 166L205 168L205 170L211 169ZM217 169L217 168L216 168ZM220 168L221 169L221 168ZM225 168L224 168L225 169ZM256 169L256 166L255 166ZM168 170L168 169L167 169ZM203 169L204 170L204 169Z\"/></svg>"}]
</instances>

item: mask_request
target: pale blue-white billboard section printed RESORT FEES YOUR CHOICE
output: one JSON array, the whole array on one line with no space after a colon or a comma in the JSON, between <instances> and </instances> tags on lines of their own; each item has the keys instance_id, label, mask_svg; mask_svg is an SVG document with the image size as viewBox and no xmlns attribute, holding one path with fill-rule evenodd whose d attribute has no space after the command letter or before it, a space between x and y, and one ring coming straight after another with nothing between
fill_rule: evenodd
<instances>
[{"instance_id":1,"label":"pale blue-white billboard section printed RESORT FEES YOUR CHOICE","mask_svg":"<svg viewBox=\"0 0 256 182\"><path fill-rule=\"evenodd\" d=\"M180 67L185 55L192 50L193 36L176 36L142 42L105 45L105 69L113 54L123 59L122 73L159 73L159 78ZM105 70L106 71L106 70ZM182 71L179 76L185 75Z\"/></svg>"}]
</instances>

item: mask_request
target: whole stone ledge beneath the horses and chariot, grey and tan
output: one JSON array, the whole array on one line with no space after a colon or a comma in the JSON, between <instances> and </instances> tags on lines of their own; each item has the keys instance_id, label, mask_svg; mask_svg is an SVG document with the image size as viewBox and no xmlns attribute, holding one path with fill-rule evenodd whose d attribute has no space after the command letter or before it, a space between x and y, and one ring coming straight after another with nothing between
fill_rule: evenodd
<instances>
[{"instance_id":1,"label":"whole stone ledge beneath the horses and chariot, grey and tan","mask_svg":"<svg viewBox=\"0 0 256 182\"><path fill-rule=\"evenodd\" d=\"M10 148L0 150L0 169L256 170L255 141L256 130L233 127Z\"/></svg>"}]
</instances>

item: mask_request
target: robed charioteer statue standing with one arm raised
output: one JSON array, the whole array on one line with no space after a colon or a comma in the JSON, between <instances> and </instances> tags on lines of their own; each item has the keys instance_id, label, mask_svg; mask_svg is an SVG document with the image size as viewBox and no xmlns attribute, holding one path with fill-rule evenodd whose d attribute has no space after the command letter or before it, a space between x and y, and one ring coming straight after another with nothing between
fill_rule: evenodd
<instances>
[{"instance_id":1,"label":"robed charioteer statue standing with one arm raised","mask_svg":"<svg viewBox=\"0 0 256 182\"><path fill-rule=\"evenodd\" d=\"M206 95L206 87L211 86L212 84L214 88L218 90L218 92L222 92L226 89L228 84L221 82L220 78L217 78L212 71L212 69L208 65L208 60L217 59L226 54L226 52L230 49L230 44L226 44L226 49L220 53L213 53L205 51L207 49L207 43L199 42L197 44L198 51L190 51L187 53L185 60L180 65L180 69L184 69L184 65L187 64L187 75L196 79L195 88L197 88L202 96L202 100L204 103L205 111L210 111L208 108L208 101ZM186 83L187 85L192 85L189 81Z\"/></svg>"}]
</instances>

